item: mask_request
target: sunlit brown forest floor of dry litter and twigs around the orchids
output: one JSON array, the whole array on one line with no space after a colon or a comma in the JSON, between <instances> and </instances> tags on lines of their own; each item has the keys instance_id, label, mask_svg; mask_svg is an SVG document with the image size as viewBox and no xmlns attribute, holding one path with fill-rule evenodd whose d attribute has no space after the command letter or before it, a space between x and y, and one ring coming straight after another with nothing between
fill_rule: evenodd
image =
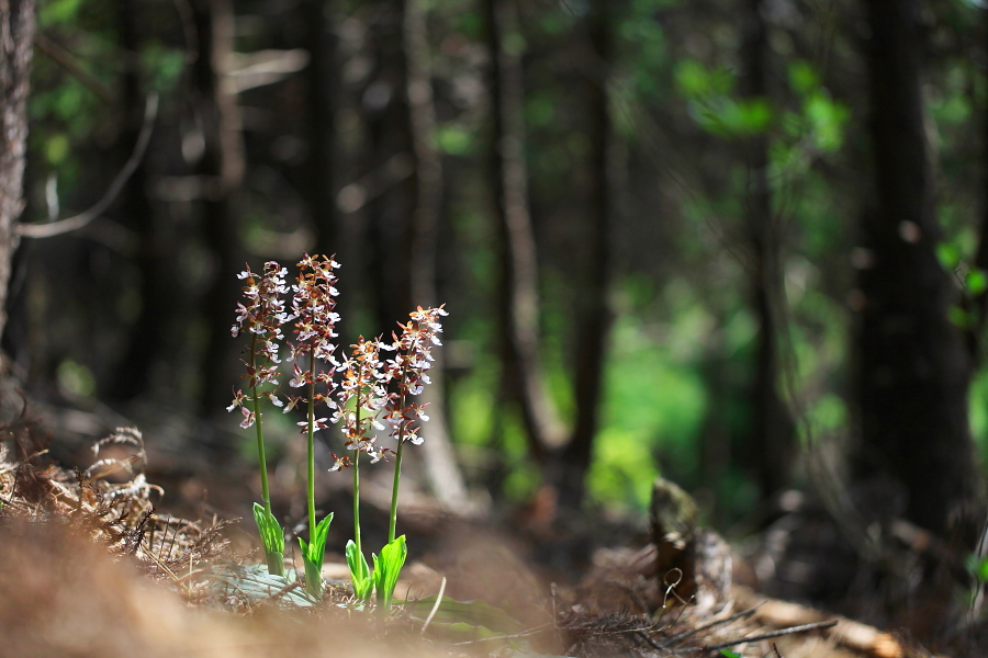
<instances>
[{"instance_id":1,"label":"sunlit brown forest floor of dry litter and twigs around the orchids","mask_svg":"<svg viewBox=\"0 0 988 658\"><path fill-rule=\"evenodd\" d=\"M656 574L648 536L620 538L600 519L550 527L413 511L409 542L422 559L406 566L396 590L403 602L390 614L353 600L340 555L327 556L326 593L313 601L300 583L272 580L256 564L243 543L252 527L158 509L162 490L142 469L138 432L116 432L101 442L102 458L68 470L21 429L0 444L0 656L287 656L326 647L505 658L931 656L907 632L772 599L731 585L730 574L705 593L699 563L696 576L692 566ZM687 580L695 591L684 597ZM970 647L951 655L977 655Z\"/></svg>"}]
</instances>

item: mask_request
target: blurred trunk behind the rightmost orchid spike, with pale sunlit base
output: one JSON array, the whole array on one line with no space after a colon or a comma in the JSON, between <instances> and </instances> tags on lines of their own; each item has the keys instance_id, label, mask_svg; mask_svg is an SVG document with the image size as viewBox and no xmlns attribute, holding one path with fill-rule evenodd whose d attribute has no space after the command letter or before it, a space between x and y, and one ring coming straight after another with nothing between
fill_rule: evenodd
<instances>
[{"instance_id":1,"label":"blurred trunk behind the rightmost orchid spike, with pale sunlit base","mask_svg":"<svg viewBox=\"0 0 988 658\"><path fill-rule=\"evenodd\" d=\"M442 160L434 145L436 110L429 64L427 3L406 0L403 23L406 94L412 150L415 156L415 208L408 241L408 282L412 304L435 306L437 227L442 207ZM449 439L442 377L442 352L436 354L430 377L433 385L423 393L430 405L428 440L423 443L426 472L433 492L448 507L462 506L467 486Z\"/></svg>"}]
</instances>

